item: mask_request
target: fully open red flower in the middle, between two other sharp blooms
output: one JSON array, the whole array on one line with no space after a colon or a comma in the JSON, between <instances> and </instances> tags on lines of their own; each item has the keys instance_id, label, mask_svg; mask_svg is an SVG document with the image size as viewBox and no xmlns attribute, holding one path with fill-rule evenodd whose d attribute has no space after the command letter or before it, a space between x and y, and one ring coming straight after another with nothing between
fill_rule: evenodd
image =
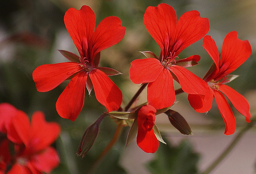
<instances>
[{"instance_id":1,"label":"fully open red flower in the middle, between two other sharp blooms","mask_svg":"<svg viewBox=\"0 0 256 174\"><path fill-rule=\"evenodd\" d=\"M148 58L131 62L130 79L135 84L149 83L147 101L156 109L167 108L175 101L173 79L184 92L204 98L209 95L207 84L184 67L198 64L200 56L175 60L178 54L192 43L203 38L209 31L209 20L201 18L198 11L184 13L177 23L173 7L159 4L149 6L144 14L144 24L155 39L161 53L159 58L152 52L142 52Z\"/></svg>"}]
</instances>

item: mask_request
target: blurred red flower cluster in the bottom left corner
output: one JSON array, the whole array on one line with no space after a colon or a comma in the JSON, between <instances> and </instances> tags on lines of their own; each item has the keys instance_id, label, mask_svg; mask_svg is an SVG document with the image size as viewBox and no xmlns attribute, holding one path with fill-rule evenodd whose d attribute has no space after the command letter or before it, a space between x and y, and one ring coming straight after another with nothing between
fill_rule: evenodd
<instances>
[{"instance_id":1,"label":"blurred red flower cluster in the bottom left corner","mask_svg":"<svg viewBox=\"0 0 256 174\"><path fill-rule=\"evenodd\" d=\"M50 173L59 165L58 153L50 145L60 131L60 126L47 123L40 111L34 112L30 123L23 111L1 103L0 173Z\"/></svg>"}]
</instances>

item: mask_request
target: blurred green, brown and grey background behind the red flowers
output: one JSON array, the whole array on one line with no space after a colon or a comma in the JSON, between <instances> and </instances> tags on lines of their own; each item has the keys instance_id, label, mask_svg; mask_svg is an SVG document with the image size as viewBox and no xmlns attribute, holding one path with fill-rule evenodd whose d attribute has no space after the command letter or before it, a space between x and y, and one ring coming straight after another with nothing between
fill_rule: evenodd
<instances>
[{"instance_id":1,"label":"blurred green, brown and grey background behind the red flowers","mask_svg":"<svg viewBox=\"0 0 256 174\"><path fill-rule=\"evenodd\" d=\"M231 106L237 120L237 130L234 135L225 136L225 125L215 101L207 114L200 114L190 107L187 95L180 94L176 97L179 102L172 109L187 120L194 135L182 135L171 126L166 115L159 115L156 124L168 145L161 143L155 154L147 154L133 140L125 149L129 131L129 127L125 127L114 147L92 170L94 161L110 142L116 129L114 121L106 117L101 123L97 140L86 156L75 155L83 132L106 109L97 102L93 92L89 97L86 91L85 104L78 118L74 122L63 119L57 114L55 103L68 82L42 93L36 90L32 79L32 72L37 66L67 61L57 49L78 55L63 22L66 10L90 6L96 15L96 26L107 16L114 15L121 19L122 26L126 27L125 37L101 52L100 64L123 73L111 79L123 92L124 102L128 103L139 88L129 80L130 62L145 58L138 51L152 51L156 55L160 51L143 24L146 8L159 3L171 5L177 19L190 10L198 10L201 17L209 18L208 35L215 40L219 52L225 35L230 31L237 31L239 39L249 40L252 55L231 73L239 77L229 86L247 98L252 117L256 116L255 0L0 0L0 103L8 102L29 116L34 111L43 111L47 121L61 125L61 136L53 144L60 155L61 164L52 173L198 173L207 168L247 124L245 118ZM194 54L200 55L201 60L199 65L189 70L202 78L213 62L202 47L202 39L183 50L179 58ZM175 87L179 88L177 84ZM146 101L146 91L139 99L139 103ZM255 144L256 132L252 129L212 173L255 173Z\"/></svg>"}]
</instances>

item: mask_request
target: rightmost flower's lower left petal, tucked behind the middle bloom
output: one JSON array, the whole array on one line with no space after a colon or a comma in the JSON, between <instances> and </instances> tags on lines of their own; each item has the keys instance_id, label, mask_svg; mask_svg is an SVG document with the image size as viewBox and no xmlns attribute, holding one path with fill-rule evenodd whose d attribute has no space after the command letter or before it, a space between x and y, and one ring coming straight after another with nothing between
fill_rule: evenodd
<instances>
[{"instance_id":1,"label":"rightmost flower's lower left petal, tucked behind the middle bloom","mask_svg":"<svg viewBox=\"0 0 256 174\"><path fill-rule=\"evenodd\" d=\"M208 99L206 98L208 97ZM207 112L211 109L213 103L213 90L210 89L210 95L206 95L204 100L199 95L189 94L187 95L189 104L199 113Z\"/></svg>"}]
</instances>

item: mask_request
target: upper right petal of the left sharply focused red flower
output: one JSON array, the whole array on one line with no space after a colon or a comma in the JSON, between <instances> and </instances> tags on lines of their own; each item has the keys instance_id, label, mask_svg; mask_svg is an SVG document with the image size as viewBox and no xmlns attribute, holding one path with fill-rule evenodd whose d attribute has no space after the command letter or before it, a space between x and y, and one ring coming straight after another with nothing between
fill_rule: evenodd
<instances>
[{"instance_id":1,"label":"upper right petal of the left sharply focused red flower","mask_svg":"<svg viewBox=\"0 0 256 174\"><path fill-rule=\"evenodd\" d=\"M103 19L88 42L89 50L91 50L91 62L98 52L120 42L125 35L125 30L118 17L109 16Z\"/></svg>"}]
</instances>

